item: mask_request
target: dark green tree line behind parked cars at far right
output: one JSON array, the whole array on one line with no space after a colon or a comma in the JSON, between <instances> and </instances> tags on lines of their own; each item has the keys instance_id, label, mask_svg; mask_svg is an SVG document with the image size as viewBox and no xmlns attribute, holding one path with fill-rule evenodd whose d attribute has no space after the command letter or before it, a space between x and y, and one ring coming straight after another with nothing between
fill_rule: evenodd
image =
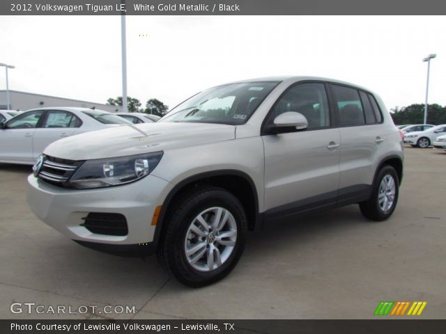
<instances>
[{"instance_id":1,"label":"dark green tree line behind parked cars at far right","mask_svg":"<svg viewBox=\"0 0 446 334\"><path fill-rule=\"evenodd\" d=\"M410 104L402 108L395 107L390 110L395 124L422 124L424 121L424 104ZM427 124L446 124L446 106L429 104L427 108Z\"/></svg>"}]
</instances>

